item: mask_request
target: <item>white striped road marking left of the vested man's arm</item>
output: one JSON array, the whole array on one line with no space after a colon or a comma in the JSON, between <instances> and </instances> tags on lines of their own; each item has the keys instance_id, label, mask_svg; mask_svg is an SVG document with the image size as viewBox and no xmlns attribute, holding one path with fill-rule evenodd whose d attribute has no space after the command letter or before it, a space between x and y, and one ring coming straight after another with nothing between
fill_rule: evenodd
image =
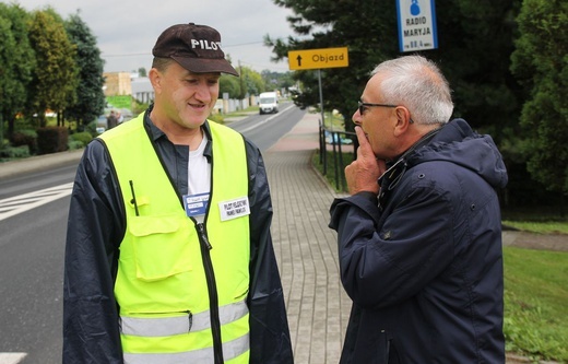
<instances>
[{"instance_id":1,"label":"white striped road marking left of the vested man's arm","mask_svg":"<svg viewBox=\"0 0 568 364\"><path fill-rule=\"evenodd\" d=\"M69 183L0 200L0 221L69 196L72 189L73 183Z\"/></svg>"}]
</instances>

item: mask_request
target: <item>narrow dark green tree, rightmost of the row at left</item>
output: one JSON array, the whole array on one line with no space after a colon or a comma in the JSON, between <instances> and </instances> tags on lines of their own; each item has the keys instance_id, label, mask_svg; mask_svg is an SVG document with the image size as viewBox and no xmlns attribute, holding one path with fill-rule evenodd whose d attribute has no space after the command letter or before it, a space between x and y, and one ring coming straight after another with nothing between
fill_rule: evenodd
<instances>
[{"instance_id":1,"label":"narrow dark green tree, rightmost of the row at left","mask_svg":"<svg viewBox=\"0 0 568 364\"><path fill-rule=\"evenodd\" d=\"M105 61L100 58L95 36L79 13L69 16L64 26L71 44L76 47L74 61L79 67L76 99L74 103L70 101L64 115L76 120L78 126L85 126L105 111Z\"/></svg>"}]
</instances>

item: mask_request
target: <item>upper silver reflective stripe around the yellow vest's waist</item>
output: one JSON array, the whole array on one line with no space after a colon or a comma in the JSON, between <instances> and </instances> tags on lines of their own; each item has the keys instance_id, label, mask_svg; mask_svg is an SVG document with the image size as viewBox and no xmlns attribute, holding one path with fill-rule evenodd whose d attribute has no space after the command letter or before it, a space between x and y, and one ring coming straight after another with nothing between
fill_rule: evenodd
<instances>
[{"instance_id":1,"label":"upper silver reflective stripe around the yellow vest's waist","mask_svg":"<svg viewBox=\"0 0 568 364\"><path fill-rule=\"evenodd\" d=\"M245 317L248 306L245 301L218 307L221 325ZM211 329L210 312L176 317L128 317L121 316L121 332L139 337L166 337Z\"/></svg>"}]
</instances>

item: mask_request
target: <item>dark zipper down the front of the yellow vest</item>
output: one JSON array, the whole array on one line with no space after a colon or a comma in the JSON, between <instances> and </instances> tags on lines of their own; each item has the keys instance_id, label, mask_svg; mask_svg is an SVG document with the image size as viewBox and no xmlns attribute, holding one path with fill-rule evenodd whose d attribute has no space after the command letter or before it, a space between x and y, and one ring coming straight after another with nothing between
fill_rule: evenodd
<instances>
[{"instance_id":1,"label":"dark zipper down the front of the yellow vest","mask_svg":"<svg viewBox=\"0 0 568 364\"><path fill-rule=\"evenodd\" d=\"M218 296L217 285L215 282L215 272L213 270L213 262L211 261L211 253L213 249L205 232L203 223L196 225L199 235L201 247L201 257L203 259L203 268L205 270L205 279L208 281L209 290L209 306L211 314L211 334L213 337L213 353L215 356L215 364L223 364L223 342L221 340L221 321L218 318Z\"/></svg>"}]
</instances>

